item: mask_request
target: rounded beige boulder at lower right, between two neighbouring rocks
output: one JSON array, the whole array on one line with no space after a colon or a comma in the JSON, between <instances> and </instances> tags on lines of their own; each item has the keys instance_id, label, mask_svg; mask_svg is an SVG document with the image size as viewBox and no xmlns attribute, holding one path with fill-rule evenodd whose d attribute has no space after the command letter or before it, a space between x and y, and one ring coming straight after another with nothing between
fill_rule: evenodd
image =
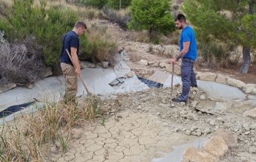
<instances>
[{"instance_id":1,"label":"rounded beige boulder at lower right, between two neighbouring rocks","mask_svg":"<svg viewBox=\"0 0 256 162\"><path fill-rule=\"evenodd\" d=\"M203 150L211 153L215 157L220 158L223 157L227 152L228 147L221 136L212 136L210 140L204 142Z\"/></svg>"}]
</instances>

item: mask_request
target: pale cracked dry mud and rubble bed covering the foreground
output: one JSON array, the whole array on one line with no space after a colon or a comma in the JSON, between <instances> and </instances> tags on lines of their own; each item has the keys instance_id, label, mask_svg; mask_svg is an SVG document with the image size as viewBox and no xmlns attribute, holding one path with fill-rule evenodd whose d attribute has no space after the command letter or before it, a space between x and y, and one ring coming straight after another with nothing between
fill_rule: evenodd
<instances>
[{"instance_id":1,"label":"pale cracked dry mud and rubble bed covering the foreground","mask_svg":"<svg viewBox=\"0 0 256 162\"><path fill-rule=\"evenodd\" d=\"M181 87L175 87L175 92L180 90ZM211 99L200 89L191 91L193 100L201 106L208 104L207 101L223 102ZM206 97L204 102L200 101L201 95ZM255 146L255 119L241 115L241 111L250 108L246 101L229 101L231 104L224 114L213 115L194 109L193 100L187 106L178 103L174 107L169 106L169 100L169 88L103 100L100 109L106 117L104 125L100 117L92 125L76 128L81 136L70 141L67 152L51 152L47 158L49 161L152 161L163 157L161 152L172 152L174 146L211 138L217 129L224 128L238 134L238 144L220 161L256 161L255 153L249 153Z\"/></svg>"}]
</instances>

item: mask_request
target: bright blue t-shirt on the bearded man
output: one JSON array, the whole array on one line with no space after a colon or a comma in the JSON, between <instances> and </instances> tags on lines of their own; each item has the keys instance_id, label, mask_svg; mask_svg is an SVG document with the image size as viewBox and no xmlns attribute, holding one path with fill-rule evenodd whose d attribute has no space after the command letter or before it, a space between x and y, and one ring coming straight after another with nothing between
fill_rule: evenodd
<instances>
[{"instance_id":1,"label":"bright blue t-shirt on the bearded man","mask_svg":"<svg viewBox=\"0 0 256 162\"><path fill-rule=\"evenodd\" d=\"M197 59L197 42L194 36L194 31L190 26L186 26L180 34L180 51L183 50L183 43L190 42L188 53L183 56L184 58Z\"/></svg>"}]
</instances>

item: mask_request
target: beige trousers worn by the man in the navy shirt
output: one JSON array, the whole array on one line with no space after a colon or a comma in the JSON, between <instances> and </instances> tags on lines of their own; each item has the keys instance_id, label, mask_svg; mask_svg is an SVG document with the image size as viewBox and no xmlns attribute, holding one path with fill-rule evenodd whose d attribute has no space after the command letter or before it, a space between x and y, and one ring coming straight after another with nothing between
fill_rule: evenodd
<instances>
[{"instance_id":1,"label":"beige trousers worn by the man in the navy shirt","mask_svg":"<svg viewBox=\"0 0 256 162\"><path fill-rule=\"evenodd\" d=\"M64 98L67 102L75 101L77 91L77 75L75 67L63 62L60 66L62 67L62 72L65 76L66 89Z\"/></svg>"}]
</instances>

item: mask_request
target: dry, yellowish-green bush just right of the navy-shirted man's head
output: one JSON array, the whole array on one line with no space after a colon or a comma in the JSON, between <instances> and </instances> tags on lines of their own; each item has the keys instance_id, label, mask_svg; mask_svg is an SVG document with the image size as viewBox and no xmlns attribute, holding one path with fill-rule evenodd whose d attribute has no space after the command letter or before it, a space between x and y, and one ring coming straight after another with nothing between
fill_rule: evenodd
<instances>
[{"instance_id":1,"label":"dry, yellowish-green bush just right of the navy-shirted man's head","mask_svg":"<svg viewBox=\"0 0 256 162\"><path fill-rule=\"evenodd\" d=\"M86 35L81 37L79 59L90 59L92 62L108 61L109 55L117 51L116 41L108 34L106 27L93 24L87 29Z\"/></svg>"}]
</instances>

